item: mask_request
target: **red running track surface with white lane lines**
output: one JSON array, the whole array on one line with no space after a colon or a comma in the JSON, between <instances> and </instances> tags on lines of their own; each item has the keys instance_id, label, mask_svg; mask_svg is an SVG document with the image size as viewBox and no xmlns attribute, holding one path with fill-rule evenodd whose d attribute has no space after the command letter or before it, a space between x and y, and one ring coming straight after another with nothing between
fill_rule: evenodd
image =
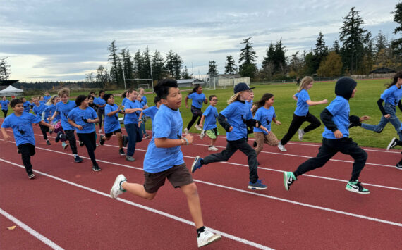
<instances>
[{"instance_id":1,"label":"red running track surface with white lane lines","mask_svg":"<svg viewBox=\"0 0 402 250\"><path fill-rule=\"evenodd\" d=\"M54 137L47 146L39 127L35 138L37 153L31 158L35 180L21 168L16 145L0 141L0 212L42 237L19 225L7 230L16 222L0 213L1 249L44 249L49 246L40 239L46 242L46 238L54 248L63 249L197 249L185 196L169 182L153 201L131 194L118 200L108 196L120 173L129 182L143 182L142 161L149 140L137 144L137 161L129 163L118 155L112 137L95 151L102 168L95 173L89 158L73 163L71 150L63 151ZM195 144L182 147L188 168L195 156L211 153L209 139L195 138ZM223 149L226 139L219 138L217 146ZM260 192L247 189L247 158L240 152L227 163L197 170L193 177L205 225L224 234L204 249L400 249L402 171L394 167L401 159L399 151L367 149L360 181L371 194L345 190L353 159L342 154L299 177L286 192L282 172L296 170L306 156L317 154L318 146L295 142L287 144L283 153L264 145L258 173L268 189ZM85 147L78 146L78 152L87 157Z\"/></svg>"}]
</instances>

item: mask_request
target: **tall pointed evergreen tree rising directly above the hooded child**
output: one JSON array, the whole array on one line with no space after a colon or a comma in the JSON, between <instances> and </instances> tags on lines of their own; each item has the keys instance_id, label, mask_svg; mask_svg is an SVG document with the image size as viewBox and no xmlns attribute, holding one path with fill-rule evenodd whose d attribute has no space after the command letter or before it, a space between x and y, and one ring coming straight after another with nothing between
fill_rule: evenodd
<instances>
[{"instance_id":1,"label":"tall pointed evergreen tree rising directly above the hooded child","mask_svg":"<svg viewBox=\"0 0 402 250\"><path fill-rule=\"evenodd\" d=\"M341 56L343 66L350 70L350 73L357 73L360 62L363 58L364 39L367 30L361 25L364 24L359 15L360 11L355 11L355 7L343 18L343 25L339 33L339 39L342 42Z\"/></svg>"}]
</instances>

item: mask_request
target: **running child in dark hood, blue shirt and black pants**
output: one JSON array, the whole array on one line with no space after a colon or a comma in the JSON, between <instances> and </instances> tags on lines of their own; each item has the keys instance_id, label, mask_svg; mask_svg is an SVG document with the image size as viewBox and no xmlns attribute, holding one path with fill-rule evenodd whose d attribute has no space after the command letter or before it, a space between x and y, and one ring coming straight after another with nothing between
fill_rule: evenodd
<instances>
[{"instance_id":1,"label":"running child in dark hood, blue shirt and black pants","mask_svg":"<svg viewBox=\"0 0 402 250\"><path fill-rule=\"evenodd\" d=\"M310 158L301 165L295 172L284 172L284 185L285 189L289 187L295 180L298 180L299 175L321 168L332 156L341 152L353 157L351 180L346 184L346 190L358 194L370 194L370 191L365 189L358 177L363 170L367 153L361 149L357 143L353 142L349 137L349 127L355 126L363 120L367 120L368 116L358 118L355 115L349 116L349 99L355 96L357 82L355 80L342 77L335 85L336 98L334 101L322 111L320 118L325 125L324 132L322 133L322 146L315 158Z\"/></svg>"}]
</instances>

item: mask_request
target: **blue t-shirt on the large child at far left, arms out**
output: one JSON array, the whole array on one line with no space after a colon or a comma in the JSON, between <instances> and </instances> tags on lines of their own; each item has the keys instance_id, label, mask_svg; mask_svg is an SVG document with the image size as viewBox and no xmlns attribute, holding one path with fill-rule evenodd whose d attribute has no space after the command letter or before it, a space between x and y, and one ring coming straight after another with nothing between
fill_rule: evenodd
<instances>
[{"instance_id":1,"label":"blue t-shirt on the large child at far left, arms out","mask_svg":"<svg viewBox=\"0 0 402 250\"><path fill-rule=\"evenodd\" d=\"M40 123L40 119L32 113L23 112L20 116L15 113L8 115L1 127L13 129L14 139L16 144L29 143L35 146L35 136L33 133L32 123Z\"/></svg>"}]
</instances>

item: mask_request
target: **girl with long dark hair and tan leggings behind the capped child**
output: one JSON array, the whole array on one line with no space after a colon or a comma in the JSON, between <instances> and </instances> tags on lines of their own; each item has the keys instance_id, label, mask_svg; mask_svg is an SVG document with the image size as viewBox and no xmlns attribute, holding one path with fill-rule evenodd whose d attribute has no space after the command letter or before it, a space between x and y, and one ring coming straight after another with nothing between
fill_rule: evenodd
<instances>
[{"instance_id":1,"label":"girl with long dark hair and tan leggings behind the capped child","mask_svg":"<svg viewBox=\"0 0 402 250\"><path fill-rule=\"evenodd\" d=\"M260 101L252 108L252 115L254 115L254 119L259 121L265 130L262 130L259 127L255 127L254 129L254 137L255 142L253 146L255 147L255 153L260 154L262 151L262 147L264 143L269 146L278 146L278 138L271 131L271 122L274 122L276 125L281 125L279 120L276 120L275 108L274 108L274 95L270 93L264 94Z\"/></svg>"}]
</instances>

